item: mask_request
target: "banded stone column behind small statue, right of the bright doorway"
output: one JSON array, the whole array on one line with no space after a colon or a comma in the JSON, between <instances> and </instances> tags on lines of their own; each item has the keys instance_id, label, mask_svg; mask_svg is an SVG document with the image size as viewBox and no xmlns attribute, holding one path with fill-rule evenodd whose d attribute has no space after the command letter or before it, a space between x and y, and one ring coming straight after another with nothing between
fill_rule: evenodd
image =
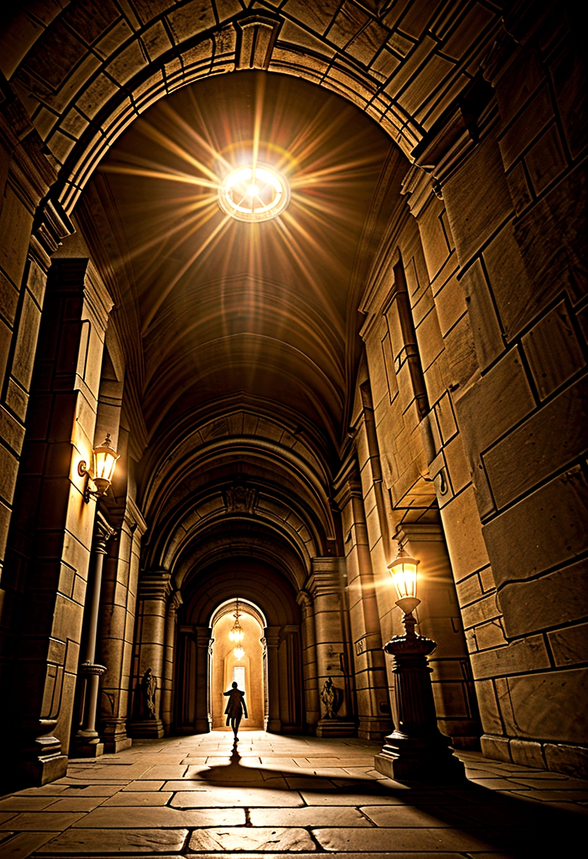
<instances>
[{"instance_id":1,"label":"banded stone column behind small statue, right of the bright doorway","mask_svg":"<svg viewBox=\"0 0 588 859\"><path fill-rule=\"evenodd\" d=\"M306 588L314 602L319 694L328 691L330 682L334 690L332 706L322 699L318 737L351 737L356 731L345 672L344 568L342 557L313 558Z\"/></svg>"}]
</instances>

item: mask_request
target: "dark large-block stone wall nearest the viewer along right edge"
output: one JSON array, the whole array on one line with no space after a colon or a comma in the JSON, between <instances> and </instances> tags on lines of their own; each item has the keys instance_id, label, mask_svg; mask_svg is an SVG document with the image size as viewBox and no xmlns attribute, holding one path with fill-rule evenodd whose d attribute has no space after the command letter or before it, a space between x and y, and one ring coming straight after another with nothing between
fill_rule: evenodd
<instances>
[{"instance_id":1,"label":"dark large-block stone wall nearest the viewer along right edge","mask_svg":"<svg viewBox=\"0 0 588 859\"><path fill-rule=\"evenodd\" d=\"M484 540L479 561L475 540L457 553L449 545L483 751L579 773L588 756L586 140L581 123L571 128L570 104L584 97L582 62L557 10L529 25L507 17L516 39L504 34L485 71L496 119L442 181L475 356L452 399Z\"/></svg>"}]
</instances>

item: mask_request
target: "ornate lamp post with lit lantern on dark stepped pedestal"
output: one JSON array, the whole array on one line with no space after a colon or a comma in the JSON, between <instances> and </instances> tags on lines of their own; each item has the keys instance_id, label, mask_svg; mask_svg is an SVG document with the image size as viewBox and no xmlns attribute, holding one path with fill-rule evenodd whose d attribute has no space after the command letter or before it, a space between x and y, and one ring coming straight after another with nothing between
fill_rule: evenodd
<instances>
[{"instance_id":1,"label":"ornate lamp post with lit lantern on dark stepped pedestal","mask_svg":"<svg viewBox=\"0 0 588 859\"><path fill-rule=\"evenodd\" d=\"M405 633L384 645L394 656L395 705L398 726L386 737L382 751L374 758L378 772L395 779L456 781L465 778L462 762L455 757L450 739L437 727L427 656L437 643L414 632L414 609L419 561L409 557L399 544L398 554L389 564L399 606L404 612Z\"/></svg>"}]
</instances>

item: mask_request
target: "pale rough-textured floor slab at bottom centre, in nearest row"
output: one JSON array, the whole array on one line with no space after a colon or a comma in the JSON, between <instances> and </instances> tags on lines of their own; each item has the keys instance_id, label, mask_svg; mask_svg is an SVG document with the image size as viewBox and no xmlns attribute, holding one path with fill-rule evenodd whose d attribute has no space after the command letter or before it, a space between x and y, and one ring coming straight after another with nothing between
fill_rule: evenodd
<instances>
[{"instance_id":1,"label":"pale rough-textured floor slab at bottom centre, in nearest row","mask_svg":"<svg viewBox=\"0 0 588 859\"><path fill-rule=\"evenodd\" d=\"M194 832L190 850L316 850L305 829L276 827L205 829Z\"/></svg>"}]
</instances>

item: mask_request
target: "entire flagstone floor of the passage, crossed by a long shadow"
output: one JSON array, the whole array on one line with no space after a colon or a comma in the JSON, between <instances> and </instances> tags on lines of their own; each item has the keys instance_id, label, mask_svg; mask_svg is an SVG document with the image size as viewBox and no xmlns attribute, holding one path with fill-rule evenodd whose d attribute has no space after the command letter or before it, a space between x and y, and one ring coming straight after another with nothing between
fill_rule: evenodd
<instances>
[{"instance_id":1,"label":"entire flagstone floor of the passage, crossed by a long shadow","mask_svg":"<svg viewBox=\"0 0 588 859\"><path fill-rule=\"evenodd\" d=\"M0 799L2 859L542 857L588 834L588 782L459 752L468 781L399 783L378 743L243 731L138 740ZM584 841L585 844L585 841Z\"/></svg>"}]
</instances>

